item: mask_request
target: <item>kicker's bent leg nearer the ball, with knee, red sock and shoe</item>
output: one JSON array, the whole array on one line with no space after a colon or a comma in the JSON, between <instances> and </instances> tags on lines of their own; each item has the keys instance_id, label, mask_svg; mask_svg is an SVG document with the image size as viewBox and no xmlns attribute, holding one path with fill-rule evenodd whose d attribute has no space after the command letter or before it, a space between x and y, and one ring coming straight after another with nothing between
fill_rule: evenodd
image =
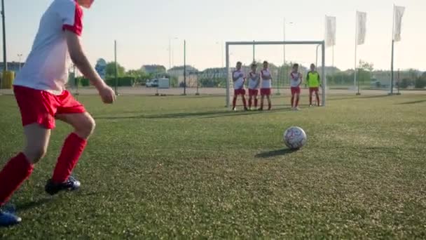
<instances>
[{"instance_id":1,"label":"kicker's bent leg nearer the ball, with knee, red sock and shoe","mask_svg":"<svg viewBox=\"0 0 426 240\"><path fill-rule=\"evenodd\" d=\"M71 173L83 154L88 138L95 130L95 120L88 112L57 114L56 119L73 126L74 132L65 140L53 171L53 177L48 180L46 185L46 192L51 195L57 194L61 190L75 190L80 187L80 182L72 178Z\"/></svg>"}]
</instances>

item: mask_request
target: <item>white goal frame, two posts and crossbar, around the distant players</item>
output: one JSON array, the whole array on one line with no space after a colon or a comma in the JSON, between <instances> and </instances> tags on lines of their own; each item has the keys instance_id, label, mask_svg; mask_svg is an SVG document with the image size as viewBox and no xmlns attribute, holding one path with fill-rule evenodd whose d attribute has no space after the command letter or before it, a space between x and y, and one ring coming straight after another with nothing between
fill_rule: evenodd
<instances>
[{"instance_id":1,"label":"white goal frame, two posts and crossbar, around the distant players","mask_svg":"<svg viewBox=\"0 0 426 240\"><path fill-rule=\"evenodd\" d=\"M325 75L325 41L227 41L226 42L226 107L231 106L231 65L229 48L237 45L317 45L322 51L322 106L326 105L327 79ZM317 53L318 54L318 53ZM285 64L285 62L284 62Z\"/></svg>"}]
</instances>

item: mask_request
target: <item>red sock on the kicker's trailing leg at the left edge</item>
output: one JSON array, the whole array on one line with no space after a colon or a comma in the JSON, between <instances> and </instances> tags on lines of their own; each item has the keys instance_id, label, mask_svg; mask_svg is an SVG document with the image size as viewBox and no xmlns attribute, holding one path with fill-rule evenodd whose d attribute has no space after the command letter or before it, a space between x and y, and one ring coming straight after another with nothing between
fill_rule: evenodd
<instances>
[{"instance_id":1,"label":"red sock on the kicker's trailing leg at the left edge","mask_svg":"<svg viewBox=\"0 0 426 240\"><path fill-rule=\"evenodd\" d=\"M29 178L34 169L27 157L21 152L8 161L0 172L0 206L6 204L22 182Z\"/></svg>"}]
</instances>

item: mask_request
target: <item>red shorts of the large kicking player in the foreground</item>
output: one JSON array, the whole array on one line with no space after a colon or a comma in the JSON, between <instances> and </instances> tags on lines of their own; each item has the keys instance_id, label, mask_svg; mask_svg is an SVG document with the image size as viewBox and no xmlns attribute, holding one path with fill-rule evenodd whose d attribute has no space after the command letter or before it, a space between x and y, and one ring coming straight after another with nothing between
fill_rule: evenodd
<instances>
[{"instance_id":1,"label":"red shorts of the large kicking player in the foreground","mask_svg":"<svg viewBox=\"0 0 426 240\"><path fill-rule=\"evenodd\" d=\"M46 129L53 129L56 114L86 112L84 106L69 91L53 95L33 88L13 86L13 92L20 108L22 126L39 124Z\"/></svg>"}]
</instances>

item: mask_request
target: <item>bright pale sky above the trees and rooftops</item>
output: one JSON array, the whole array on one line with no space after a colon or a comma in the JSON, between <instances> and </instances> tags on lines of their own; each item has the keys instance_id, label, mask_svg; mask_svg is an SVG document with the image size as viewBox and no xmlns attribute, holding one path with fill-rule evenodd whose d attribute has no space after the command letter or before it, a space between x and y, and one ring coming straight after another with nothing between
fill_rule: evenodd
<instances>
[{"instance_id":1,"label":"bright pale sky above the trees and rooftops","mask_svg":"<svg viewBox=\"0 0 426 240\"><path fill-rule=\"evenodd\" d=\"M53 0L5 0L8 60L27 56L39 19ZM221 43L283 39L284 17L287 40L324 39L324 16L337 18L335 65L354 67L355 12L367 12L366 44L359 46L359 59L377 69L390 69L392 4L406 6L402 41L395 45L395 68L426 70L426 1L424 0L95 0L85 11L83 44L90 61L114 60L126 69L144 64L169 66L169 39L173 63L183 64L183 40L187 63L198 69L220 67ZM289 22L294 22L290 24ZM233 48L231 60L249 63L252 47ZM327 65L331 65L331 48ZM282 46L256 48L256 59L282 63ZM315 62L315 46L288 46L287 60ZM233 65L233 64L232 64Z\"/></svg>"}]
</instances>

